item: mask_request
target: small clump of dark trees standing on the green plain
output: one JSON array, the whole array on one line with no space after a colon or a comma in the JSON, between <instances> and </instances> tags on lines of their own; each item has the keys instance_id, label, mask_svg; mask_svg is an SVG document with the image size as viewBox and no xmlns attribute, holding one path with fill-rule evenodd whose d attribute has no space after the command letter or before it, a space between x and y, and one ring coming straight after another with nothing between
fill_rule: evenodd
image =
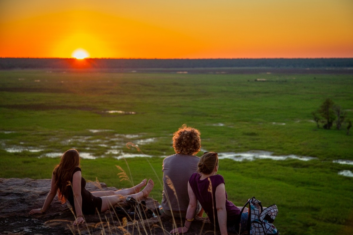
<instances>
[{"instance_id":1,"label":"small clump of dark trees standing on the green plain","mask_svg":"<svg viewBox=\"0 0 353 235\"><path fill-rule=\"evenodd\" d=\"M347 135L352 127L352 121L346 119L347 112L342 110L341 106L336 105L330 98L325 99L317 111L311 113L316 125L320 128L322 124L324 129L331 129L336 124L337 130L340 130L344 122L347 123Z\"/></svg>"}]
</instances>

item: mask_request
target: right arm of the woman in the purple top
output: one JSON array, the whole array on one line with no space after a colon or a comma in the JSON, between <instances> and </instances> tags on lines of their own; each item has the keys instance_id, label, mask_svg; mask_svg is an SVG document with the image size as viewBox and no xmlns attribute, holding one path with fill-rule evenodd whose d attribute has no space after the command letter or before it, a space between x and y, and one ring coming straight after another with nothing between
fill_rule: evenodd
<instances>
[{"instance_id":1,"label":"right arm of the woman in the purple top","mask_svg":"<svg viewBox=\"0 0 353 235\"><path fill-rule=\"evenodd\" d=\"M224 184L216 187L216 209L221 234L227 235L226 188Z\"/></svg>"}]
</instances>

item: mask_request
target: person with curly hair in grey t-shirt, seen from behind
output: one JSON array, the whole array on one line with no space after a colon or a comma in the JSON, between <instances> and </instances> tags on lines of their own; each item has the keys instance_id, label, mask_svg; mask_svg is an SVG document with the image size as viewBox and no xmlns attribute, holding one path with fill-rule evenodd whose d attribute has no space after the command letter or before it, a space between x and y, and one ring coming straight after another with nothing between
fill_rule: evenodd
<instances>
[{"instance_id":1,"label":"person with curly hair in grey t-shirt, seen from behind","mask_svg":"<svg viewBox=\"0 0 353 235\"><path fill-rule=\"evenodd\" d=\"M170 217L185 218L189 205L187 182L197 172L199 157L195 156L201 148L200 132L184 124L173 134L175 154L163 160L163 193L161 206ZM203 210L198 203L196 215Z\"/></svg>"}]
</instances>

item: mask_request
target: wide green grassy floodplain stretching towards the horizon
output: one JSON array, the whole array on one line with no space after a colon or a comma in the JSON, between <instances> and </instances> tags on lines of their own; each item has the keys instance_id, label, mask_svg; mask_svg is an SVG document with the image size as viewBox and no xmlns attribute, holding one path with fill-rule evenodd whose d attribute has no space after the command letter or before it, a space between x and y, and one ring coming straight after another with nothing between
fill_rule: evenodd
<instances>
[{"instance_id":1,"label":"wide green grassy floodplain stretching towards the horizon","mask_svg":"<svg viewBox=\"0 0 353 235\"><path fill-rule=\"evenodd\" d=\"M50 178L59 158L41 156L76 148L98 157L82 160L86 180L122 188L152 178L151 196L160 201L163 156L173 154L172 134L185 123L200 130L202 151L315 157L223 159L219 173L236 205L252 196L264 206L276 203L282 235L352 234L353 179L338 172L353 166L333 160L353 160L353 135L346 134L346 124L342 130L317 128L311 115L331 98L352 120L352 88L353 76L343 74L0 71L0 177ZM153 138L139 144L152 157L106 154L107 148L141 154L124 144L141 138ZM11 147L24 150L6 150ZM116 166L129 180L121 181Z\"/></svg>"}]
</instances>

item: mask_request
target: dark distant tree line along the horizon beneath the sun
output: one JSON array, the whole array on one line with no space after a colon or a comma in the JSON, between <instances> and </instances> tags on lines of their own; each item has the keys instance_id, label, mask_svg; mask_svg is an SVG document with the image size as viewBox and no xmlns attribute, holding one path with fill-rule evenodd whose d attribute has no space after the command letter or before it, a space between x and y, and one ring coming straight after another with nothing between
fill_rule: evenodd
<instances>
[{"instance_id":1,"label":"dark distant tree line along the horizon beneath the sun","mask_svg":"<svg viewBox=\"0 0 353 235\"><path fill-rule=\"evenodd\" d=\"M109 59L0 58L0 69L65 68L352 68L353 58Z\"/></svg>"}]
</instances>

